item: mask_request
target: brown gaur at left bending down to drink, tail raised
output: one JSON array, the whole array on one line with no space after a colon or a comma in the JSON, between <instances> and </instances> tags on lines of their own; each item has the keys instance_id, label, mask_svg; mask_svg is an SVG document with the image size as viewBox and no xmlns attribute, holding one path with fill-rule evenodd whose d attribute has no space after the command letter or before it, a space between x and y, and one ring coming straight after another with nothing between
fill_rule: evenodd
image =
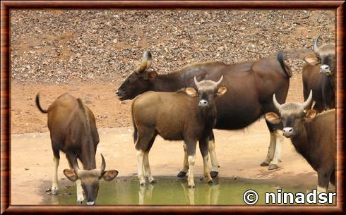
<instances>
[{"instance_id":1,"label":"brown gaur at left bending down to drink, tail raised","mask_svg":"<svg viewBox=\"0 0 346 215\"><path fill-rule=\"evenodd\" d=\"M77 201L83 203L84 195L86 204L95 204L99 190L99 180L113 180L118 171L105 171L106 162L101 154L102 164L96 168L95 154L99 135L92 111L80 99L70 94L62 94L47 110L40 106L40 96L36 95L37 108L42 113L48 113L48 128L52 141L54 155L54 176L52 194L58 191L58 166L59 151L66 154L66 159L71 169L65 169L65 176L76 181ZM83 169L78 167L77 158L83 164Z\"/></svg>"}]
</instances>

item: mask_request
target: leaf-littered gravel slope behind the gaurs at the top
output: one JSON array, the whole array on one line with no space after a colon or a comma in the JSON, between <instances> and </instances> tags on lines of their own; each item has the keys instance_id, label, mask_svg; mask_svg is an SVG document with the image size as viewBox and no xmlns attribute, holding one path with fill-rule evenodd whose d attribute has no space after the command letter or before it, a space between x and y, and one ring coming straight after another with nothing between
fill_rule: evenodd
<instances>
[{"instance_id":1,"label":"leaf-littered gravel slope behind the gaurs at the top","mask_svg":"<svg viewBox=\"0 0 346 215\"><path fill-rule=\"evenodd\" d=\"M158 73L280 50L301 73L318 34L321 44L335 41L335 11L13 10L11 75L18 82L114 82L133 72L145 50Z\"/></svg>"}]
</instances>

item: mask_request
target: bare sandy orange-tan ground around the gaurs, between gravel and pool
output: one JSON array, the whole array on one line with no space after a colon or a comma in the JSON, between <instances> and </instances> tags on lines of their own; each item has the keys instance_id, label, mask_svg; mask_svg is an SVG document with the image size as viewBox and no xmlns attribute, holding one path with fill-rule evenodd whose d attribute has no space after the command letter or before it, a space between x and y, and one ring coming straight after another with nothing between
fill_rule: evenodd
<instances>
[{"instance_id":1,"label":"bare sandy orange-tan ground around the gaurs, between gravel and pool","mask_svg":"<svg viewBox=\"0 0 346 215\"><path fill-rule=\"evenodd\" d=\"M137 173L136 152L133 146L130 105L114 97L121 80L114 84L76 82L68 85L11 85L11 204L40 204L44 190L52 185L52 149L47 129L47 115L35 107L35 94L41 92L44 109L56 97L68 92L84 100L95 114L100 133L97 162L105 156L107 168L115 168L119 176ZM302 102L302 77L294 74L290 80L289 102ZM122 128L120 128L122 127ZM244 130L215 130L217 159L221 177L273 180L288 185L316 185L316 172L295 152L290 140L285 140L282 163L275 171L261 167L266 156L269 133L263 119ZM174 155L174 156L172 156ZM155 176L176 176L183 161L181 142L169 142L157 137L150 151L150 165ZM203 173L201 154L196 154L195 180ZM68 168L61 154L59 178ZM302 180L304 178L304 180ZM59 183L73 183L60 180ZM60 186L62 188L62 185Z\"/></svg>"}]
</instances>

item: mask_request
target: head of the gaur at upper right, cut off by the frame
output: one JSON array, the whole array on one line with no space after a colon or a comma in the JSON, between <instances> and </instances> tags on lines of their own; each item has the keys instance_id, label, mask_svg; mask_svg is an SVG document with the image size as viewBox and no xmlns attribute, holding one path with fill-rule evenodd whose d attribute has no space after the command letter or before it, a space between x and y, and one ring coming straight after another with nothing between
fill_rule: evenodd
<instances>
[{"instance_id":1,"label":"head of the gaur at upper right, cut off by the frame","mask_svg":"<svg viewBox=\"0 0 346 215\"><path fill-rule=\"evenodd\" d=\"M324 44L321 47L317 46L320 35L316 37L314 42L314 54L308 55L304 61L311 66L321 64L320 73L324 75L333 75L335 73L335 45Z\"/></svg>"}]
</instances>

